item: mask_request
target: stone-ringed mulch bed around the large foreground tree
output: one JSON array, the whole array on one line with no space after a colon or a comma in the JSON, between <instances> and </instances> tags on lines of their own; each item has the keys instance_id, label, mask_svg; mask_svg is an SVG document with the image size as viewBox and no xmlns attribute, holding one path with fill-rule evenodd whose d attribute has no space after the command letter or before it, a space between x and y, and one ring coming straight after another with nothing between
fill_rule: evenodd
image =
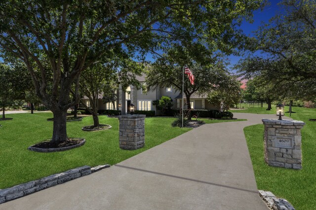
<instances>
[{"instance_id":1,"label":"stone-ringed mulch bed around the large foreground tree","mask_svg":"<svg viewBox=\"0 0 316 210\"><path fill-rule=\"evenodd\" d=\"M50 140L46 140L29 147L29 150L50 152L50 151L63 151L77 148L85 143L85 139L69 138L67 141L55 143Z\"/></svg>"}]
</instances>

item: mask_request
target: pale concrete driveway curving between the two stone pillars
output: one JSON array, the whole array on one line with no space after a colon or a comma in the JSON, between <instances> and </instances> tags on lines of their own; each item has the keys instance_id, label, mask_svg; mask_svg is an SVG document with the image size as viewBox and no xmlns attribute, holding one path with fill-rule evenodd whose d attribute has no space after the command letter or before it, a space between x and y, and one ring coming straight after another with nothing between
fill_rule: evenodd
<instances>
[{"instance_id":1,"label":"pale concrete driveway curving between the two stone pillars","mask_svg":"<svg viewBox=\"0 0 316 210\"><path fill-rule=\"evenodd\" d=\"M243 127L276 116L234 115L247 121L202 125L108 169L4 203L0 209L267 210L258 194Z\"/></svg>"}]
</instances>

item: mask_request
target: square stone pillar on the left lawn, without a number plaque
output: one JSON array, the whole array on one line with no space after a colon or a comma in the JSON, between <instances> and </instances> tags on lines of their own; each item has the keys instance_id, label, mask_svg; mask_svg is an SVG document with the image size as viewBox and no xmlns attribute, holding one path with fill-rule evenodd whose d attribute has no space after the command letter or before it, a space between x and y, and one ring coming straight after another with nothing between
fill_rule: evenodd
<instances>
[{"instance_id":1,"label":"square stone pillar on the left lawn, without a number plaque","mask_svg":"<svg viewBox=\"0 0 316 210\"><path fill-rule=\"evenodd\" d=\"M145 116L120 115L119 120L119 148L137 150L145 145Z\"/></svg>"}]
</instances>

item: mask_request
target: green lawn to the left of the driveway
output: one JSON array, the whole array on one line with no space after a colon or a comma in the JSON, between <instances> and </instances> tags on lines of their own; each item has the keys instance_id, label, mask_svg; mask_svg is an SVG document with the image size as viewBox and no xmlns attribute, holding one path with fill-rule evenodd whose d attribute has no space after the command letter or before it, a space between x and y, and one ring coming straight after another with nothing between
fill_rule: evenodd
<instances>
[{"instance_id":1,"label":"green lawn to the left of the driveway","mask_svg":"<svg viewBox=\"0 0 316 210\"><path fill-rule=\"evenodd\" d=\"M69 137L85 138L84 146L62 152L41 153L27 150L33 144L51 138L51 113L6 115L13 120L0 121L0 188L36 180L83 165L116 164L142 151L179 136L190 128L172 127L173 118L146 118L145 147L139 150L121 150L118 145L118 119L100 116L100 123L112 128L86 132L81 127L93 124L92 117L67 123ZM208 120L217 123L231 120Z\"/></svg>"}]
</instances>

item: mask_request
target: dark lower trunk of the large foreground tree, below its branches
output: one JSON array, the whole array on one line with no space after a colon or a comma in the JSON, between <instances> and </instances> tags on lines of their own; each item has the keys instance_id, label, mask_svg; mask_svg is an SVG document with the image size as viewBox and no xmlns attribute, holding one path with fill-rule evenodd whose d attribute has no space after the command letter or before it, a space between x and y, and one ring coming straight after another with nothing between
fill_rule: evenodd
<instances>
[{"instance_id":1,"label":"dark lower trunk of the large foreground tree, below its branches","mask_svg":"<svg viewBox=\"0 0 316 210\"><path fill-rule=\"evenodd\" d=\"M52 142L58 144L68 140L66 122L67 110L54 109L54 125L53 125L53 138Z\"/></svg>"}]
</instances>

